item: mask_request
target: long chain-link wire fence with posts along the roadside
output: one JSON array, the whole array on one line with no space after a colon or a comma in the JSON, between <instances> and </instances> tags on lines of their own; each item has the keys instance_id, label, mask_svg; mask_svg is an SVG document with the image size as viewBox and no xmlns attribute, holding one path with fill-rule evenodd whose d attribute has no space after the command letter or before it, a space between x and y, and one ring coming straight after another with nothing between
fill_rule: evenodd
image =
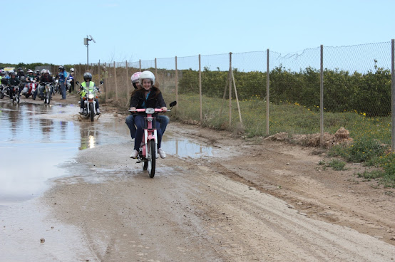
<instances>
[{"instance_id":1,"label":"long chain-link wire fence with posts along the roadside","mask_svg":"<svg viewBox=\"0 0 395 262\"><path fill-rule=\"evenodd\" d=\"M74 69L81 81L86 65ZM352 137L369 133L391 144L391 42L98 63L88 70L105 81L103 99L125 110L130 76L151 70L167 102L178 100L183 120L249 136L312 134L322 127L334 134L344 127Z\"/></svg>"}]
</instances>

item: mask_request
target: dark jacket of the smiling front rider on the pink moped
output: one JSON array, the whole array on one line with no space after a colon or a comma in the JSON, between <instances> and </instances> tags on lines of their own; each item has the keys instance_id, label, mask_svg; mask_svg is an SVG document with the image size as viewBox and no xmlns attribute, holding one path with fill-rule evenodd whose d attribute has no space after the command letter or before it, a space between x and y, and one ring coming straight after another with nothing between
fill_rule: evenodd
<instances>
[{"instance_id":1,"label":"dark jacket of the smiling front rider on the pink moped","mask_svg":"<svg viewBox=\"0 0 395 262\"><path fill-rule=\"evenodd\" d=\"M148 95L148 99L145 99L145 90L141 88L133 92L132 98L130 98L130 108L163 108L166 106L165 100L163 100L162 93L158 88L151 88L151 92Z\"/></svg>"}]
</instances>

